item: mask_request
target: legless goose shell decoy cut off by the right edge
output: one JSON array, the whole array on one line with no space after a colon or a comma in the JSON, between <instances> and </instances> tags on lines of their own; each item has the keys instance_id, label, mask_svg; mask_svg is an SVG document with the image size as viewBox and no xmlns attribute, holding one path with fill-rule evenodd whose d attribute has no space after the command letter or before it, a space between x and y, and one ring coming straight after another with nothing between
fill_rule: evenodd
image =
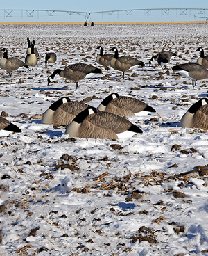
<instances>
[{"instance_id":1,"label":"legless goose shell decoy cut off by the right edge","mask_svg":"<svg viewBox=\"0 0 208 256\"><path fill-rule=\"evenodd\" d=\"M182 116L180 127L208 129L208 99L194 103Z\"/></svg>"}]
</instances>

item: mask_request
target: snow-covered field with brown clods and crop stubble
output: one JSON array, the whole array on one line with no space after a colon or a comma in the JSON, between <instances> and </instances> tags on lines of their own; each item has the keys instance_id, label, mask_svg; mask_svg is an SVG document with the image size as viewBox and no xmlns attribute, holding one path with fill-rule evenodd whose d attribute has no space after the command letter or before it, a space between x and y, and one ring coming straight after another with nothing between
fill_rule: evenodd
<instances>
[{"instance_id":1,"label":"snow-covered field with brown clods and crop stubble","mask_svg":"<svg viewBox=\"0 0 208 256\"><path fill-rule=\"evenodd\" d=\"M208 51L207 24L1 25L0 47L22 61L26 38L40 58L32 72L0 70L1 112L21 134L0 138L0 255L208 255L207 131L180 128L207 81L171 67ZM103 69L76 84L56 68L97 67L98 45L144 61L127 72ZM149 67L162 49L177 57L165 70ZM44 67L46 52L58 61ZM156 62L155 62L156 64ZM65 127L42 125L60 97L98 106L112 92L137 97L157 111L128 119L143 134L117 141L68 138ZM200 167L199 167L200 166Z\"/></svg>"}]
</instances>

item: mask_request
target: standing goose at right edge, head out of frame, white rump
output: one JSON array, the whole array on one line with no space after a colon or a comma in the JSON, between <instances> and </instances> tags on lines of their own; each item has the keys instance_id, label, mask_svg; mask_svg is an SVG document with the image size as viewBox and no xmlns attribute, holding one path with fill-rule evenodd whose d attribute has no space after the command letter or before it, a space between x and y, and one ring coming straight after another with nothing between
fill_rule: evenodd
<instances>
[{"instance_id":1,"label":"standing goose at right edge, head out of frame, white rump","mask_svg":"<svg viewBox=\"0 0 208 256\"><path fill-rule=\"evenodd\" d=\"M198 63L184 63L172 67L173 71L177 71L182 76L192 80L193 87L196 86L197 80L208 78L208 70Z\"/></svg>"}]
</instances>

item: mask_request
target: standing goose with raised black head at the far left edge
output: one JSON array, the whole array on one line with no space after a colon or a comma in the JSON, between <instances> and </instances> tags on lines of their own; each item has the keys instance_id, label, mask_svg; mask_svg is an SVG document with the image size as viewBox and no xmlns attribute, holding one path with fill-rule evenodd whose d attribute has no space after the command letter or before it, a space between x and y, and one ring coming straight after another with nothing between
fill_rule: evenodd
<instances>
[{"instance_id":1,"label":"standing goose with raised black head at the far left edge","mask_svg":"<svg viewBox=\"0 0 208 256\"><path fill-rule=\"evenodd\" d=\"M26 63L20 61L18 58L8 58L8 51L6 48L3 48L1 51L3 52L3 58L0 58L0 67L9 73L10 78L12 77L12 73L15 70L18 70L19 67L26 67L27 69L29 68Z\"/></svg>"}]
</instances>

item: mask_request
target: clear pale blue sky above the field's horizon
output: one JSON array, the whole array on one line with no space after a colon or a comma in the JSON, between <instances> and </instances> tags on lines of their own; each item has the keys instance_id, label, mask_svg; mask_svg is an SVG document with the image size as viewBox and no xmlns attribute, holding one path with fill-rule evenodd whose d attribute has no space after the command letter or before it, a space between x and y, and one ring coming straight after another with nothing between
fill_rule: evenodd
<instances>
[{"instance_id":1,"label":"clear pale blue sky above the field's horizon","mask_svg":"<svg viewBox=\"0 0 208 256\"><path fill-rule=\"evenodd\" d=\"M150 9L164 10L150 10ZM166 10L177 8L178 10ZM195 8L198 10L189 10ZM21 11L15 11L15 10ZM147 9L134 11L133 9ZM188 10L185 10L188 9ZM92 22L157 22L157 21L196 21L208 18L207 0L8 0L1 1L0 22L85 22L85 13L92 12ZM13 10L10 12L9 10ZM34 10L33 12L25 10ZM43 12L35 10L65 10L84 12L73 14L60 12ZM133 10L132 12L104 13L110 10ZM150 10L150 11L148 11ZM103 12L97 13L94 12Z\"/></svg>"}]
</instances>

